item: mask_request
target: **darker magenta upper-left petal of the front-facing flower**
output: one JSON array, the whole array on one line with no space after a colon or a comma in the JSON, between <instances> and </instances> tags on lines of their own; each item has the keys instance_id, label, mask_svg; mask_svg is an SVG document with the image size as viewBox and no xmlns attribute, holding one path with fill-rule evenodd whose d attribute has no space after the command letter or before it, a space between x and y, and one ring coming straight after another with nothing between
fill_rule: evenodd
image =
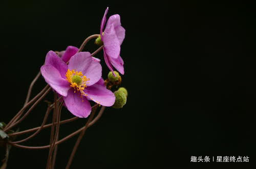
<instances>
[{"instance_id":1,"label":"darker magenta upper-left petal of the front-facing flower","mask_svg":"<svg viewBox=\"0 0 256 169\"><path fill-rule=\"evenodd\" d=\"M61 77L66 79L68 65L63 62L55 52L49 51L47 53L45 64L49 64L55 67L59 71Z\"/></svg>"}]
</instances>

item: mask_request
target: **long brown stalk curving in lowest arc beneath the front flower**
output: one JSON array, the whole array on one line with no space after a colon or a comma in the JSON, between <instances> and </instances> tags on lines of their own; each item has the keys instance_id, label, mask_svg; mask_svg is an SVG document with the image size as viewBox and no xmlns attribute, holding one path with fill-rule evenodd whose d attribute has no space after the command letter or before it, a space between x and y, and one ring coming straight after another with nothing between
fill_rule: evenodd
<instances>
[{"instance_id":1,"label":"long brown stalk curving in lowest arc beneath the front flower","mask_svg":"<svg viewBox=\"0 0 256 169\"><path fill-rule=\"evenodd\" d=\"M93 120L92 122L90 122L89 125L88 125L88 127L91 127L93 124L95 124L95 123L97 122L97 120L99 119L99 118L97 118L97 117L102 115L104 109L105 109L105 108L102 106L100 112L99 112L98 115L95 117L96 120L95 120L95 121ZM71 133L70 135L68 135L68 136L66 136L66 137L64 137L64 138L62 138L61 140L56 141L55 144L60 144L60 143L62 143L62 142L64 142L64 141L66 141L66 140L68 140L68 139L74 137L76 134L80 133L84 128L85 128L85 126L82 127L82 128L80 128L80 129L78 129L77 131ZM14 144L14 143L12 143L12 142L9 142L9 143L12 144L12 146L14 146L14 147L21 148L21 149L28 149L28 150L40 150L40 149L48 149L48 148L50 148L50 145L47 145L47 146L38 146L38 147L31 147L31 146L23 146L23 145L19 145L19 144Z\"/></svg>"}]
</instances>

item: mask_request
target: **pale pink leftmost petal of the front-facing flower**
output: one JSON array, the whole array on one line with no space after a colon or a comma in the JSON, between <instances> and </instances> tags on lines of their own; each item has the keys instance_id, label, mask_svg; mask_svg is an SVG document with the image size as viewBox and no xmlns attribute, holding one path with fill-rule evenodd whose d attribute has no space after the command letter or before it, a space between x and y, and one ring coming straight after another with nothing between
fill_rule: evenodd
<instances>
[{"instance_id":1,"label":"pale pink leftmost petal of the front-facing flower","mask_svg":"<svg viewBox=\"0 0 256 169\"><path fill-rule=\"evenodd\" d=\"M49 64L43 65L41 66L41 74L45 78L45 81L56 90L57 93L63 96L68 95L70 83L61 77L55 67Z\"/></svg>"}]
</instances>

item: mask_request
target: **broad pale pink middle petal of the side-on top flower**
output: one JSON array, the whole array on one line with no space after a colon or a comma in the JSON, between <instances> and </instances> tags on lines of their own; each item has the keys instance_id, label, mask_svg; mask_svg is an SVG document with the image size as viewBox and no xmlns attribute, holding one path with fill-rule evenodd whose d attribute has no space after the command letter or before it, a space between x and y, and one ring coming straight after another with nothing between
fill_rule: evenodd
<instances>
[{"instance_id":1,"label":"broad pale pink middle petal of the side-on top flower","mask_svg":"<svg viewBox=\"0 0 256 169\"><path fill-rule=\"evenodd\" d=\"M120 54L120 43L113 24L106 26L103 37L105 53L112 58L118 58Z\"/></svg>"}]
</instances>

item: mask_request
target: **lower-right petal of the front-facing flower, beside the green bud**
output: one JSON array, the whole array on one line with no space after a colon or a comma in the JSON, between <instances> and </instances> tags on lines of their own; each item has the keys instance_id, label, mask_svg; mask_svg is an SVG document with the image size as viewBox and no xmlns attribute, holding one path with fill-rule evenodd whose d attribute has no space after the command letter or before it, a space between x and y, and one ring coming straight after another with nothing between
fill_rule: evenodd
<instances>
[{"instance_id":1,"label":"lower-right petal of the front-facing flower, beside the green bud","mask_svg":"<svg viewBox=\"0 0 256 169\"><path fill-rule=\"evenodd\" d=\"M87 87L84 92L88 94L87 98L102 106L112 106L115 103L115 94L111 90L106 89L105 85L102 85L102 80Z\"/></svg>"}]
</instances>

